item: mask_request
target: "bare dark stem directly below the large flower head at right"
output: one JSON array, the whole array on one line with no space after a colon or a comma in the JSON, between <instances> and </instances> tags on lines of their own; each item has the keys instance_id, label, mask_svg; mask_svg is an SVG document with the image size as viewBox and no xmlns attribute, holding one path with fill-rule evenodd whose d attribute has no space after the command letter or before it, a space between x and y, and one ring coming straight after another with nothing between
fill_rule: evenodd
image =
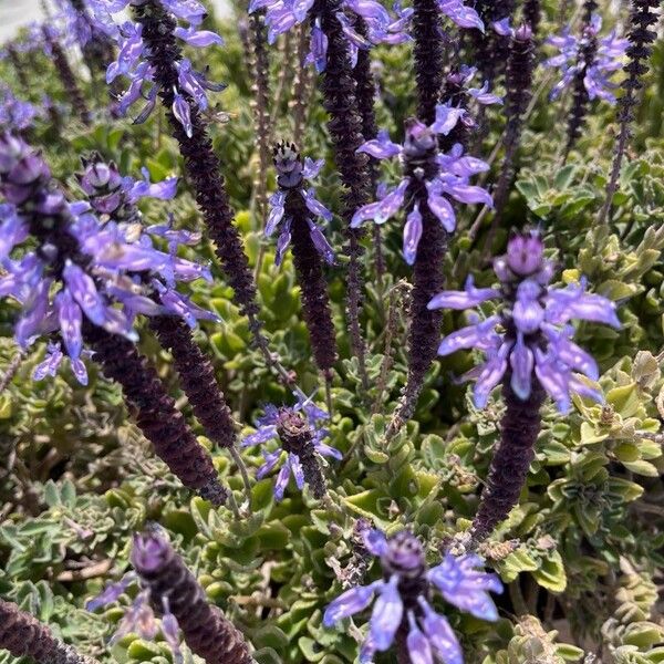
<instances>
[{"instance_id":1,"label":"bare dark stem directly below the large flower head at right","mask_svg":"<svg viewBox=\"0 0 664 664\"><path fill-rule=\"evenodd\" d=\"M526 401L513 393L509 382L510 376L507 375L502 384L507 411L500 423L500 443L494 454L487 486L470 527L474 547L505 521L518 505L541 428L540 411L546 393L539 381L532 377L531 393Z\"/></svg>"}]
</instances>

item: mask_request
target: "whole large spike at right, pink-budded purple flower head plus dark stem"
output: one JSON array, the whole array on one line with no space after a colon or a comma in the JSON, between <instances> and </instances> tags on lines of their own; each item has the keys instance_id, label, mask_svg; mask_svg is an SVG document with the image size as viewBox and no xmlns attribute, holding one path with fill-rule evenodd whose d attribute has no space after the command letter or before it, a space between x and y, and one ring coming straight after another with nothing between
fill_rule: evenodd
<instances>
[{"instance_id":1,"label":"whole large spike at right, pink-budded purple flower head plus dark stem","mask_svg":"<svg viewBox=\"0 0 664 664\"><path fill-rule=\"evenodd\" d=\"M476 542L505 520L518 502L540 430L540 407L548 394L561 413L571 407L571 395L602 401L602 394L581 381L581 373L599 377L593 357L571 340L573 319L620 328L615 305L584 292L584 283L564 289L549 286L554 267L543 257L536 232L512 236L507 255L494 262L499 288L476 288L469 278L465 291L444 291L432 309L465 310L499 300L498 311L446 336L439 355L477 349L486 361L461 380L475 380L474 400L484 408L491 391L502 385L507 406L501 438L494 456L487 488L473 525Z\"/></svg>"}]
</instances>

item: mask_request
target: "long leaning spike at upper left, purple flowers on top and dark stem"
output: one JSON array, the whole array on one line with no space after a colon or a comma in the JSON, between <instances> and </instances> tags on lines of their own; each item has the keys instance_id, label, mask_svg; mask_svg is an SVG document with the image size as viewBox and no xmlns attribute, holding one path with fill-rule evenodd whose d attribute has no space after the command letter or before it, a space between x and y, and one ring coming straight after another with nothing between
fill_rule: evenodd
<instances>
[{"instance_id":1,"label":"long leaning spike at upper left, purple flowers on top and dark stem","mask_svg":"<svg viewBox=\"0 0 664 664\"><path fill-rule=\"evenodd\" d=\"M284 383L290 384L291 374L270 351L268 340L261 332L253 274L234 224L235 212L204 115L209 104L207 92L221 91L225 85L212 83L205 73L197 72L191 61L184 56L178 42L181 40L196 48L207 48L218 45L222 40L215 32L200 29L206 10L195 1L100 0L95 4L96 18L113 25L110 12L121 11L129 6L136 21L124 23L117 30L120 52L107 71L108 81L118 75L129 79L129 87L120 100L118 107L126 113L129 106L143 97L143 90L149 87L145 93L147 105L135 121L145 122L160 100L184 157L187 176L193 184L208 234L234 289L234 301L241 313L248 317L255 343L266 362L279 373Z\"/></svg>"}]
</instances>

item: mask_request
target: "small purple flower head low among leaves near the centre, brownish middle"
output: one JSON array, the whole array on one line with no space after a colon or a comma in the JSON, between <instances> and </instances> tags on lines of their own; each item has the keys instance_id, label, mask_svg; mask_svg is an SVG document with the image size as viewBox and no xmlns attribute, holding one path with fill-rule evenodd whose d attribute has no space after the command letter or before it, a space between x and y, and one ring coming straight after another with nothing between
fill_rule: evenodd
<instances>
[{"instance_id":1,"label":"small purple flower head low among leaves near the centre, brownish middle","mask_svg":"<svg viewBox=\"0 0 664 664\"><path fill-rule=\"evenodd\" d=\"M286 453L274 483L277 501L283 499L291 475L299 489L302 489L307 483L314 495L319 492L322 476L320 476L315 455L336 460L342 458L338 449L323 443L329 432L320 427L320 422L329 418L328 413L315 406L311 397L302 397L298 393L295 396L298 403L292 407L278 408L268 404L264 407L264 415L256 421L256 433L245 436L240 443L240 447L255 447L269 440L279 440L280 445L276 450L262 452L264 463L257 473L259 479L267 477L278 467Z\"/></svg>"}]
</instances>

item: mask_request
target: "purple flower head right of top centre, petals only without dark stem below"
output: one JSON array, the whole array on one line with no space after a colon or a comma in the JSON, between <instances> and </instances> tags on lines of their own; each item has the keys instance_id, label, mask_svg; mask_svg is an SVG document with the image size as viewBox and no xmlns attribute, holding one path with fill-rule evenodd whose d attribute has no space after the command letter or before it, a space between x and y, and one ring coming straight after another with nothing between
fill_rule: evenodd
<instances>
[{"instance_id":1,"label":"purple flower head right of top centre, petals only without dark stem below","mask_svg":"<svg viewBox=\"0 0 664 664\"><path fill-rule=\"evenodd\" d=\"M405 177L392 190L385 186L378 189L378 200L361 207L353 215L351 228L357 228L369 219L384 224L406 208L407 218L404 228L404 258L408 264L415 262L417 245L422 236L421 210L413 205L416 188L426 190L429 210L438 218L447 232L456 228L456 214L452 199L466 205L483 203L492 206L491 195L481 187L469 184L470 177L488 170L481 159L465 156L460 144L455 144L448 154L438 152L438 135L447 135L463 117L465 111L445 105L436 108L436 121L430 127L417 120L406 123L406 136L403 145L393 143L386 132L362 145L357 152L365 152L377 159L398 156L404 163Z\"/></svg>"}]
</instances>

